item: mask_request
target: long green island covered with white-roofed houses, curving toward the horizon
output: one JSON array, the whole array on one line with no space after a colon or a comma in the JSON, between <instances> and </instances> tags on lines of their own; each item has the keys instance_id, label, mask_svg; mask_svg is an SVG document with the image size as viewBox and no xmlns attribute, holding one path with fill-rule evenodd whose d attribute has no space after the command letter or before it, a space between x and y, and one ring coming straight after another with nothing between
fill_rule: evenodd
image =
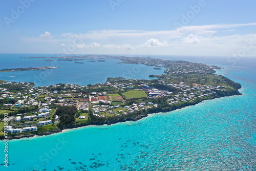
<instances>
[{"instance_id":1,"label":"long green island covered with white-roofed houses, curving toward the horizon","mask_svg":"<svg viewBox=\"0 0 256 171\"><path fill-rule=\"evenodd\" d=\"M136 121L148 114L174 111L207 99L241 95L240 83L216 75L215 69L220 67L202 63L106 55L32 58L119 59L119 63L161 66L165 71L162 75L150 75L156 78L152 80L109 77L105 83L87 86L59 83L34 87L33 82L0 80L0 119L8 113L8 126L0 122L2 140ZM4 133L8 133L8 138Z\"/></svg>"}]
</instances>

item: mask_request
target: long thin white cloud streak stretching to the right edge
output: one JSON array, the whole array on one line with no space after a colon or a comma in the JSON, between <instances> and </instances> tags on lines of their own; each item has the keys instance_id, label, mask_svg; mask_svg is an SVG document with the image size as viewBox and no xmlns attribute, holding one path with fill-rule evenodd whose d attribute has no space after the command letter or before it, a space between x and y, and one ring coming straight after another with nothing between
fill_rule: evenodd
<instances>
[{"instance_id":1,"label":"long thin white cloud streak stretching to the right edge","mask_svg":"<svg viewBox=\"0 0 256 171\"><path fill-rule=\"evenodd\" d=\"M79 37L81 39L150 39L156 37L161 40L168 41L169 39L182 38L185 35L191 33L196 35L208 35L212 36L219 30L231 29L243 26L254 26L256 23L248 24L215 24L215 25L202 25L202 26L183 26L175 30L159 30L159 31L145 31L145 30L92 30L84 34L74 34L74 33L63 33L62 37L75 38Z\"/></svg>"}]
</instances>

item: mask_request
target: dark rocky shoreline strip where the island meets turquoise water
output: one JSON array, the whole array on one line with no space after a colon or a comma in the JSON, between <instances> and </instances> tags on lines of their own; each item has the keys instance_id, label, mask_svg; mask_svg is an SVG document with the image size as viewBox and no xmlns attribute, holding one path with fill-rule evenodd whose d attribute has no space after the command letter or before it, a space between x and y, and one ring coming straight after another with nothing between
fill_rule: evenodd
<instances>
[{"instance_id":1,"label":"dark rocky shoreline strip where the island meets turquoise water","mask_svg":"<svg viewBox=\"0 0 256 171\"><path fill-rule=\"evenodd\" d=\"M241 88L242 89L242 88ZM240 89L239 89L240 90ZM240 93L240 92L239 92ZM240 93L238 95L231 95L231 96L222 96L222 97L232 97L232 96L240 96L240 95L244 95L243 93ZM214 99L219 99L219 98L222 98L222 97L218 97L218 98L209 98L209 99L206 99L206 100L214 100ZM68 128L65 128L65 129L62 129L62 130L54 130L54 131L50 131L50 132L46 132L46 133L38 133L38 134L31 134L31 135L21 135L21 136L15 136L15 137L8 137L8 141L9 140L17 140L17 139L25 139L25 138L33 138L33 137L43 137L43 136L47 136L47 135L52 135L52 134L57 134L57 133L65 133L65 132L68 132L70 130L77 130L79 128L85 128L85 127L90 127L90 126L102 126L102 125L113 125L113 124L118 124L118 123L124 123L124 122L129 122L129 121L133 121L133 122L136 122L136 121L139 121L143 118L146 118L150 115L153 115L153 114L159 114L159 113L169 113L169 112L172 112L172 111L176 111L176 110L180 110L180 109L184 109L188 106L194 106L196 104L199 104L199 103L202 103L204 102L205 100L202 100L200 102L197 102L195 104L191 104L191 105L186 105L186 106L183 106L183 107L179 107L177 109L172 109L172 110L168 110L168 111L159 111L157 113L148 113L148 114L144 114L144 115L139 115L135 118L126 118L126 119L121 119L121 120L115 120L115 121L112 121L112 122L107 122L107 123L102 123L102 124L84 124L84 125L81 125L81 126L72 126L72 127L68 127ZM1 139L0 141L4 141L6 139Z\"/></svg>"}]
</instances>

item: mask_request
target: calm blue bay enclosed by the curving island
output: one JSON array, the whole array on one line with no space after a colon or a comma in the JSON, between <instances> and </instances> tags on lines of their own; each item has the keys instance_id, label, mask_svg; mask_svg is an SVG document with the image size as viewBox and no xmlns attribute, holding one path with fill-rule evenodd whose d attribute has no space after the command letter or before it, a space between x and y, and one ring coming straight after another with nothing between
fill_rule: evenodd
<instances>
[{"instance_id":1,"label":"calm blue bay enclosed by the curving island","mask_svg":"<svg viewBox=\"0 0 256 171\"><path fill-rule=\"evenodd\" d=\"M89 60L44 61L44 58L20 58L56 56L55 54L0 54L0 69L29 67L60 67L45 71L0 72L0 79L16 82L35 82L36 86L50 86L57 83L73 83L86 86L105 82L108 77L125 77L126 79L155 79L150 74L161 75L162 70L154 70L154 66L117 63L121 60L105 59L105 62L89 62Z\"/></svg>"}]
</instances>

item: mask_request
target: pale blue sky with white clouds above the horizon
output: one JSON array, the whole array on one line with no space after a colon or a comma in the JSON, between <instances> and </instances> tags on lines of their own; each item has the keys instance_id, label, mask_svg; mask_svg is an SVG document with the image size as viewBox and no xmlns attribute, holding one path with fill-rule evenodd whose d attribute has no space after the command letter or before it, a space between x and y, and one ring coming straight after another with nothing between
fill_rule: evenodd
<instances>
[{"instance_id":1,"label":"pale blue sky with white clouds above the horizon","mask_svg":"<svg viewBox=\"0 0 256 171\"><path fill-rule=\"evenodd\" d=\"M254 0L0 1L0 53L256 54Z\"/></svg>"}]
</instances>

